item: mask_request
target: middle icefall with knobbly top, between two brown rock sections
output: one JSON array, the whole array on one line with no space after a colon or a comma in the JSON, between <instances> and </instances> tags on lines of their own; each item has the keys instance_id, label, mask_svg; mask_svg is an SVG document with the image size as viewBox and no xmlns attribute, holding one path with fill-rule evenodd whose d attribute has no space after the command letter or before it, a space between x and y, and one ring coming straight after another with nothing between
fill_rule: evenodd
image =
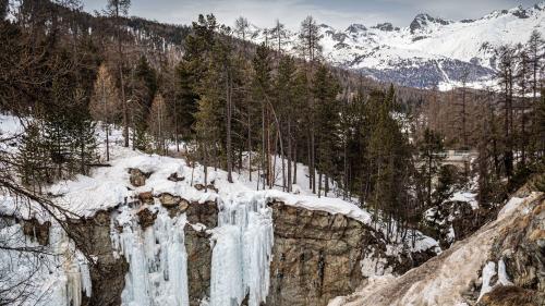
<instances>
[{"instance_id":1,"label":"middle icefall with knobbly top, between two brown rock sections","mask_svg":"<svg viewBox=\"0 0 545 306\"><path fill-rule=\"evenodd\" d=\"M123 230L118 233L112 229L112 243L129 262L122 305L186 306L185 215L171 218L160 206L152 209L157 211L157 219L145 230L129 207L116 218Z\"/></svg>"}]
</instances>

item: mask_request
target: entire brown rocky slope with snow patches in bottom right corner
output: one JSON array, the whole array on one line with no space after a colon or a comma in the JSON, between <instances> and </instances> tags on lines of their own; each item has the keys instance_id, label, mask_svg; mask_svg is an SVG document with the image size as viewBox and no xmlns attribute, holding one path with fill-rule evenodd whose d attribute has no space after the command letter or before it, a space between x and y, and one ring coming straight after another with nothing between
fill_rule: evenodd
<instances>
[{"instance_id":1,"label":"entire brown rocky slope with snow patches in bottom right corner","mask_svg":"<svg viewBox=\"0 0 545 306\"><path fill-rule=\"evenodd\" d=\"M462 306L477 301L480 305L543 305L541 271L545 268L540 254L545 197L543 193L524 193L512 197L497 220L441 255L399 278L371 278L359 292L329 305ZM499 301L507 304L494 304L501 295ZM509 304L506 295L511 303L519 303Z\"/></svg>"}]
</instances>

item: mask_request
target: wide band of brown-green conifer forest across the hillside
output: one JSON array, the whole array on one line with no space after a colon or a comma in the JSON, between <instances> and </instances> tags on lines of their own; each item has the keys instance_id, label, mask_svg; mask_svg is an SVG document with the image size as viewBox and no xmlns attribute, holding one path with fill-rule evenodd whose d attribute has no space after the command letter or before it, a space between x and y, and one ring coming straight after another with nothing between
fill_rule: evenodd
<instances>
[{"instance_id":1,"label":"wide band of brown-green conifer forest across the hillside","mask_svg":"<svg viewBox=\"0 0 545 306\"><path fill-rule=\"evenodd\" d=\"M198 16L180 49L169 49L123 30L128 0L107 1L108 26L98 33L83 30L73 13L80 2L62 4L69 10L47 7L40 14L22 7L0 33L8 42L0 46L2 64L17 68L1 75L2 108L34 119L19 164L37 189L108 162L114 126L125 147L205 166L205 181L208 168L221 168L231 182L239 173L256 189L296 192L307 175L317 196L359 203L392 237L405 236L424 211L469 183L472 173L443 166L447 147L479 150L469 171L479 174L483 206L543 172L538 34L526 46L498 50L501 90L429 90L411 105L407 89L370 86L328 66L312 16L301 22L296 53L284 50L279 21L254 44L246 19L230 27L211 14ZM447 118L455 120L445 126ZM298 173L298 163L308 171Z\"/></svg>"}]
</instances>

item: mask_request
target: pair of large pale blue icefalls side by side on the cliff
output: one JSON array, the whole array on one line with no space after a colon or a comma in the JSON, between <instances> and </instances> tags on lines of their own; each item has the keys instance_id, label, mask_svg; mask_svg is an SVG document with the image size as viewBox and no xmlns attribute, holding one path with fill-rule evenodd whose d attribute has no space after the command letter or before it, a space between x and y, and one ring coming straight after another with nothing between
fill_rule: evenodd
<instances>
[{"instance_id":1,"label":"pair of large pale blue icefalls side by side on the cliff","mask_svg":"<svg viewBox=\"0 0 545 306\"><path fill-rule=\"evenodd\" d=\"M189 302L185 213L156 204L114 212L111 241L129 262L124 306L185 306ZM199 204L193 204L199 205ZM263 195L218 199L218 225L209 229L213 246L209 306L249 306L265 302L269 287L272 219ZM153 225L143 229L137 211L149 209ZM173 216L171 216L173 215Z\"/></svg>"}]
</instances>

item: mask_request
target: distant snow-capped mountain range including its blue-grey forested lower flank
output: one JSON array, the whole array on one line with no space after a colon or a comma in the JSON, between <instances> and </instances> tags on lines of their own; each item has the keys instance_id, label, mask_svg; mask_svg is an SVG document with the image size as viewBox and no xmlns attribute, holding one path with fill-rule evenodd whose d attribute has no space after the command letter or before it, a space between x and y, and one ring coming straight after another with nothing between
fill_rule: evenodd
<instances>
[{"instance_id":1,"label":"distant snow-capped mountain range including its blue-grey forested lower flank","mask_svg":"<svg viewBox=\"0 0 545 306\"><path fill-rule=\"evenodd\" d=\"M494 11L479 20L448 21L419 14L407 27L391 23L346 29L320 25L323 56L344 69L413 87L489 79L495 49L525 44L532 30L545 33L545 1L530 8ZM259 35L261 37L263 35ZM296 33L290 37L296 40Z\"/></svg>"}]
</instances>

